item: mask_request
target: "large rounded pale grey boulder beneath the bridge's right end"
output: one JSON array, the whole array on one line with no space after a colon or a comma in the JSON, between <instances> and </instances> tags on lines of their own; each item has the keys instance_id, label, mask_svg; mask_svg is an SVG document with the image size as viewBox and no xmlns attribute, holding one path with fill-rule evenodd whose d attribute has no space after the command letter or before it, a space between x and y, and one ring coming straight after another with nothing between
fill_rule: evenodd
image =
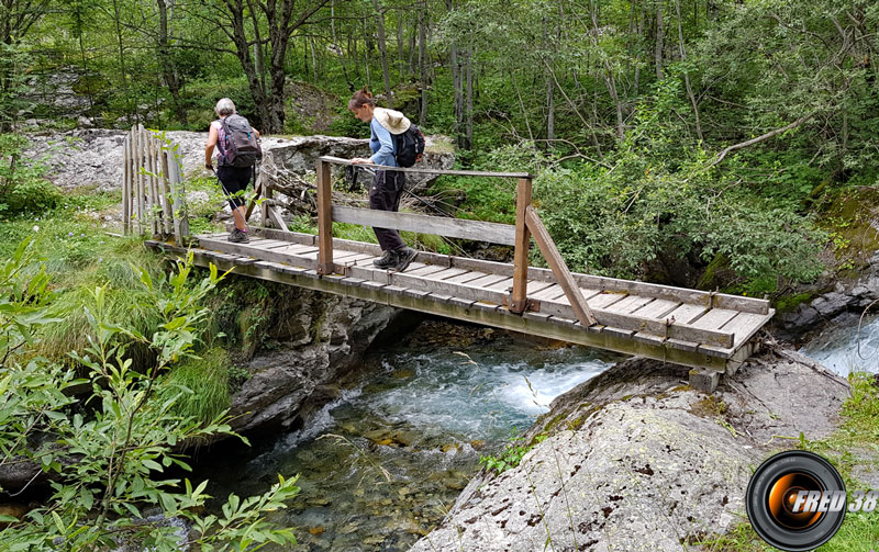
<instances>
[{"instance_id":1,"label":"large rounded pale grey boulder beneath the bridge's right end","mask_svg":"<svg viewBox=\"0 0 879 552\"><path fill-rule=\"evenodd\" d=\"M808 392L803 392L808 390ZM750 359L714 395L686 370L634 359L553 402L518 467L482 471L411 552L685 551L743 519L774 436L827 436L848 385L783 349ZM787 444L786 444L787 443Z\"/></svg>"}]
</instances>

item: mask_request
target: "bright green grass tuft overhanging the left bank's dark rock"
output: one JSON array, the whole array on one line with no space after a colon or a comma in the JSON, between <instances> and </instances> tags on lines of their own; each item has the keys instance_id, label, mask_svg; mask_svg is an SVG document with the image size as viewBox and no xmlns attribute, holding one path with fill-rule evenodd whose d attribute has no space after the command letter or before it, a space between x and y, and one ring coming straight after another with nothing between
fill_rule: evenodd
<instances>
[{"instance_id":1,"label":"bright green grass tuft overhanging the left bank's dark rock","mask_svg":"<svg viewBox=\"0 0 879 552\"><path fill-rule=\"evenodd\" d=\"M174 405L176 413L207 424L232 404L231 368L229 353L219 348L207 350L201 358L186 359L159 379L156 401L179 395Z\"/></svg>"}]
</instances>

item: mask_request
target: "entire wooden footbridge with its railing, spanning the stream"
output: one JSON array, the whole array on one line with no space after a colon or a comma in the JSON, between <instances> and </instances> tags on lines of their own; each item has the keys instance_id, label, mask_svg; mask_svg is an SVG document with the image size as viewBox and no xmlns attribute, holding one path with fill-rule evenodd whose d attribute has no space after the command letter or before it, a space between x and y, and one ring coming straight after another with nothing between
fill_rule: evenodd
<instances>
[{"instance_id":1,"label":"entire wooden footbridge with its railing, spanning the stream","mask_svg":"<svg viewBox=\"0 0 879 552\"><path fill-rule=\"evenodd\" d=\"M531 174L397 169L516 179L513 226L333 205L331 165L351 161L318 160L318 235L288 232L269 205L264 224L280 228L252 227L249 244L205 234L187 246L180 239L146 245L179 256L192 251L198 264L238 275L691 367L691 384L704 391L754 352L757 330L775 314L764 300L569 272L532 205ZM268 182L259 185L270 190ZM419 252L404 272L382 270L372 266L381 256L377 245L333 238L333 222L513 246L514 260ZM531 238L549 269L528 267Z\"/></svg>"}]
</instances>

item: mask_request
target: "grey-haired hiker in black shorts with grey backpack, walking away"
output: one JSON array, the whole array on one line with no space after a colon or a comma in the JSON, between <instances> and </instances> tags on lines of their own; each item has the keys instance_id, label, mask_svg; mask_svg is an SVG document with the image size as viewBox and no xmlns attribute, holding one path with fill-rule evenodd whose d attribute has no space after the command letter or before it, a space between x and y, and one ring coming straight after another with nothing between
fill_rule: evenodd
<instances>
[{"instance_id":1,"label":"grey-haired hiker in black shorts with grey backpack, walking away","mask_svg":"<svg viewBox=\"0 0 879 552\"><path fill-rule=\"evenodd\" d=\"M247 119L235 112L235 104L229 98L216 102L214 111L220 119L211 123L208 145L204 147L204 168L213 171L211 157L216 146L216 178L229 198L235 221L229 240L246 244L251 239L247 237L246 209L242 195L251 183L256 161L263 157L259 133Z\"/></svg>"}]
</instances>

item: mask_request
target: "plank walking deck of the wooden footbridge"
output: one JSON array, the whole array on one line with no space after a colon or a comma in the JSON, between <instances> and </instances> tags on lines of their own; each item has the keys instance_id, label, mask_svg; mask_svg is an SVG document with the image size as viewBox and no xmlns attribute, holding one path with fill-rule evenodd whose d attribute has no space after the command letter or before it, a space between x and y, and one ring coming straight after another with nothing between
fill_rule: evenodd
<instances>
[{"instance_id":1,"label":"plank walking deck of the wooden footbridge","mask_svg":"<svg viewBox=\"0 0 879 552\"><path fill-rule=\"evenodd\" d=\"M213 254L223 256L218 257L219 259L238 264L256 261L258 267L320 278L314 270L318 250L309 240L294 243L252 235L249 244L231 244L225 239L225 234L200 238L205 249L220 251ZM352 244L349 248L336 248L334 261L340 267L345 267L344 270L340 268L344 275L322 278L340 281L344 285L381 289L388 294L407 294L444 302L454 298L456 305L465 308L507 312L502 305L512 285L512 278L505 275L504 271L492 273L490 270L480 270L478 263L466 264L466 268L447 267L431 257L424 258L430 263L413 262L407 272L398 273L374 268L371 261L377 257L372 255L374 248L367 246L370 245L355 247ZM599 318L599 325L588 328L589 333L625 337L722 358L730 358L767 319L767 315L761 314L741 313L732 308L708 308L702 303L710 302L703 302L701 297L698 304L693 304L682 302L674 294L667 295L668 298L664 298L660 293L642 295L636 288L632 288L630 293L614 293L598 288L580 291ZM541 302L542 319L577 325L564 290L555 281L545 280L539 274L537 278L530 278L527 295ZM672 317L674 327L666 327L664 322ZM696 340L688 341L683 336L691 336Z\"/></svg>"}]
</instances>

